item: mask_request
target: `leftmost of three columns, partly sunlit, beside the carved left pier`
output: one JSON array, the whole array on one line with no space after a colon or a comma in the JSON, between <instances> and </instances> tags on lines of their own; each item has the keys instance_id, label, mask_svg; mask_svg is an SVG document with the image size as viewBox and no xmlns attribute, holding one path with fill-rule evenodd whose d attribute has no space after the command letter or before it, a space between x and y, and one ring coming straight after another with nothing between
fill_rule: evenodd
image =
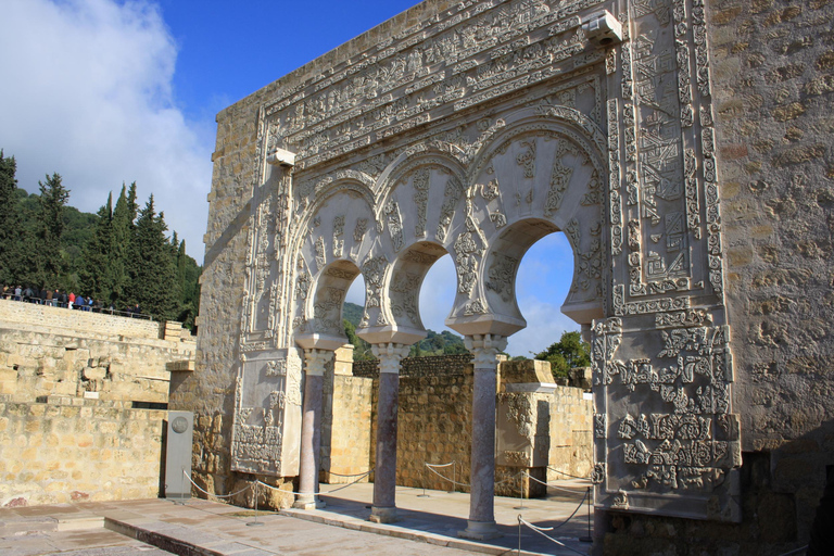
<instances>
[{"instance_id":1,"label":"leftmost of three columns, partly sunlit, beside the carved left pier","mask_svg":"<svg viewBox=\"0 0 834 556\"><path fill-rule=\"evenodd\" d=\"M329 350L304 350L304 406L301 417L301 462L299 494L294 508L316 509L325 503L318 500L318 469L321 459L321 391L325 366L333 356Z\"/></svg>"}]
</instances>

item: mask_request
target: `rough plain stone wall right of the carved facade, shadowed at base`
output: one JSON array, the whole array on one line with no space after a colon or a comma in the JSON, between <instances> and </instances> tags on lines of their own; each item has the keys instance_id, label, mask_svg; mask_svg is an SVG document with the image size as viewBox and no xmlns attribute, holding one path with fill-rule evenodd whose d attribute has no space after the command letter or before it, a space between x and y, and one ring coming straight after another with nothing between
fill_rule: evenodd
<instances>
[{"instance_id":1,"label":"rough plain stone wall right of the carved facade, shadowed at base","mask_svg":"<svg viewBox=\"0 0 834 556\"><path fill-rule=\"evenodd\" d=\"M607 554L803 546L834 465L834 3L705 3L743 521L615 515Z\"/></svg>"}]
</instances>

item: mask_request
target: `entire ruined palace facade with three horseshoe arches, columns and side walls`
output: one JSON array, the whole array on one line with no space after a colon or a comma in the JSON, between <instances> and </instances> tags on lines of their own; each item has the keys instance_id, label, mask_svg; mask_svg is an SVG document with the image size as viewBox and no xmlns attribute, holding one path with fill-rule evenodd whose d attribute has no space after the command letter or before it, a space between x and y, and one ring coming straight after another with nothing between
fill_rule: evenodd
<instances>
[{"instance_id":1,"label":"entire ruined palace facade with three horseshoe arches, columns and side walls","mask_svg":"<svg viewBox=\"0 0 834 556\"><path fill-rule=\"evenodd\" d=\"M172 396L198 415L203 484L300 476L296 505L315 505L323 375L362 275L357 333L381 371L371 519L395 519L400 362L450 254L446 324L475 365L464 534L491 535L496 354L526 325L525 252L561 231L606 549L631 554L628 523L653 520L681 532L668 545L692 520L706 547L807 541L834 464L831 12L428 0L218 114L197 372ZM771 510L787 526L760 522Z\"/></svg>"}]
</instances>

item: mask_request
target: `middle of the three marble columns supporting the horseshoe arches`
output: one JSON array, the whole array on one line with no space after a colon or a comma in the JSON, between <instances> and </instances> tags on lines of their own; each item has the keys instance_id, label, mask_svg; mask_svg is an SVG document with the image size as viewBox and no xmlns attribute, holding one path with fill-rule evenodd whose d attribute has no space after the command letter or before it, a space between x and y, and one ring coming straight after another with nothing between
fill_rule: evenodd
<instances>
[{"instance_id":1,"label":"middle of the three marble columns supporting the horseshoe arches","mask_svg":"<svg viewBox=\"0 0 834 556\"><path fill-rule=\"evenodd\" d=\"M377 402L377 463L374 472L374 505L370 520L396 521L396 410L400 395L400 362L410 345L378 343L371 346L379 358L379 401Z\"/></svg>"}]
</instances>

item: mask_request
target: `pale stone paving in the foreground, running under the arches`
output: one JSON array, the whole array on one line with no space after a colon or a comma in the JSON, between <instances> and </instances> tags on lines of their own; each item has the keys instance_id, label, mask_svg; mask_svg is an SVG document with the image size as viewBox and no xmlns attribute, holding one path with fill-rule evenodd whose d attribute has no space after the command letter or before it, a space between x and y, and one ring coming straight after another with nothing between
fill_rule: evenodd
<instances>
[{"instance_id":1,"label":"pale stone paving in the foreground, running under the arches","mask_svg":"<svg viewBox=\"0 0 834 556\"><path fill-rule=\"evenodd\" d=\"M516 509L517 498L496 498L495 518L504 536L489 542L457 536L466 527L468 494L427 491L429 496L424 497L419 489L397 488L401 521L376 525L367 521L372 484L365 483L323 494L324 509L258 511L257 516L251 509L198 498L185 504L154 498L2 508L0 554L509 555L517 554L519 545L519 515L538 526L554 527L577 510L586 483L566 481L563 486L567 490L552 489L547 500L523 501L523 509ZM324 484L321 490L337 488ZM590 543L578 540L587 534L586 507L579 507L573 519L548 534L567 548L525 528L521 554L587 554Z\"/></svg>"}]
</instances>

